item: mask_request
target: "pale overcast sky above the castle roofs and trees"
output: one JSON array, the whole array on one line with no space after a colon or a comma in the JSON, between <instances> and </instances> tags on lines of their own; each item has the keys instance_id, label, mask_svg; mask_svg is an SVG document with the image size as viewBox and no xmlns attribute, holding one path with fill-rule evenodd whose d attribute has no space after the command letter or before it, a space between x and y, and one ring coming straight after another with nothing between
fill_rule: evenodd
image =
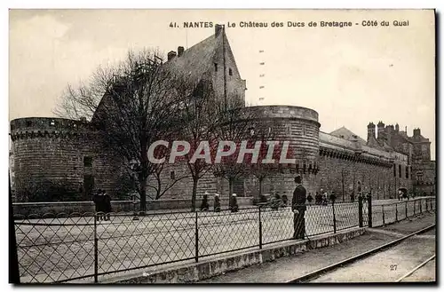
<instances>
[{"instance_id":1,"label":"pale overcast sky above the castle roofs and trees","mask_svg":"<svg viewBox=\"0 0 444 292\"><path fill-rule=\"evenodd\" d=\"M320 28L321 20L352 21L353 27ZM362 20L378 26L363 28ZM382 28L381 20L390 27ZM408 27L395 28L393 20L408 20ZM421 128L434 159L432 11L11 11L10 120L53 116L67 83L87 79L129 49L166 54L214 33L170 28L170 22L182 27L184 21L236 24L226 35L250 104L310 107L319 113L321 130L345 126L364 139L370 121L398 122L409 136ZM267 22L268 28L240 28L241 21ZM284 27L271 28L274 21ZM288 28L288 21L305 27ZM310 21L318 27L309 28Z\"/></svg>"}]
</instances>

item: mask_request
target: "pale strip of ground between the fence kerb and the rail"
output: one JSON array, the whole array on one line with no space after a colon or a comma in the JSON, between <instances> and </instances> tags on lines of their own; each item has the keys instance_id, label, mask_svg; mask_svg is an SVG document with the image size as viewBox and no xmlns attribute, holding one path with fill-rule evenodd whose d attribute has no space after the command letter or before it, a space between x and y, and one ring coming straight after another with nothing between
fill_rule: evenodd
<instances>
[{"instance_id":1,"label":"pale strip of ground between the fence kerb and the rail","mask_svg":"<svg viewBox=\"0 0 444 292\"><path fill-rule=\"evenodd\" d=\"M422 215L398 224L368 229L367 233L351 241L345 241L323 249L314 249L299 256L282 257L274 262L227 272L199 283L282 283L296 279L329 264L335 264L356 256L408 233L423 229L435 222L435 215ZM295 268L297 267L297 268Z\"/></svg>"}]
</instances>

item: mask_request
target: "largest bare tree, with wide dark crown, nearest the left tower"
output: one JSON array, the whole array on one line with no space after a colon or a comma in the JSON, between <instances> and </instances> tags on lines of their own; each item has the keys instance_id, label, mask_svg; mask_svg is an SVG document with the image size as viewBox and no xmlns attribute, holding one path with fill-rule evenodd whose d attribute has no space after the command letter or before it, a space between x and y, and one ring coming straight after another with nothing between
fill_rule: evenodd
<instances>
[{"instance_id":1,"label":"largest bare tree, with wide dark crown, nearest the left tower","mask_svg":"<svg viewBox=\"0 0 444 292\"><path fill-rule=\"evenodd\" d=\"M186 97L178 94L176 78L155 51L130 51L118 66L99 67L88 83L68 85L56 109L65 117L91 118L101 151L122 157L136 174L141 211L147 208L147 178L162 167L148 159L148 148L170 141L183 123L179 111ZM157 154L168 148L158 146Z\"/></svg>"}]
</instances>

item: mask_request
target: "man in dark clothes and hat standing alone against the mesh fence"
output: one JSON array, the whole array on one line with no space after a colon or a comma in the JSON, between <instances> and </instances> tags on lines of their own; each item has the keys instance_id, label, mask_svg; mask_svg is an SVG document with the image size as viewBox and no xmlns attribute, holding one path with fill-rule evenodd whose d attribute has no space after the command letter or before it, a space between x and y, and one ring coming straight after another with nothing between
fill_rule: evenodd
<instances>
[{"instance_id":1,"label":"man in dark clothes and hat standing alone against the mesh fence","mask_svg":"<svg viewBox=\"0 0 444 292\"><path fill-rule=\"evenodd\" d=\"M293 225L295 233L293 238L297 240L303 240L305 236L305 201L306 190L302 185L302 177L297 175L295 178L296 188L293 192L293 199L291 200L291 210L294 213Z\"/></svg>"}]
</instances>

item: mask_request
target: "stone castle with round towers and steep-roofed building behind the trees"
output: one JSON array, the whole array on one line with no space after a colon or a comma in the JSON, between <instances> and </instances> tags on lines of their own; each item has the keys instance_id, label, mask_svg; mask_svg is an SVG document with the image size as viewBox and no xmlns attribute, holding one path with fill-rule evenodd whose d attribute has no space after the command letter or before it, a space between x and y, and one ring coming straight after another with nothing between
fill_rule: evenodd
<instances>
[{"instance_id":1,"label":"stone castle with round towers and steep-roofed building behind the trees","mask_svg":"<svg viewBox=\"0 0 444 292\"><path fill-rule=\"evenodd\" d=\"M246 82L242 80L225 28L216 26L215 34L187 50L170 51L164 66L173 67L195 78L210 76L215 96L236 96L244 102ZM320 130L318 113L310 108L292 106L250 107L258 111L261 122L273 125L279 138L291 142L296 165L282 167L265 178L262 193L291 195L296 173L302 174L307 191L321 188L337 193L338 201L349 201L358 183L371 190L377 199L393 198L399 188L411 193L434 194L435 162L431 161L429 139L419 129L408 137L406 130L378 122L368 125L367 140L342 127L331 133ZM88 122L60 118L20 118L11 122L13 188L27 193L33 201L29 182L66 185L78 200L91 201L91 191L102 188L115 194L121 190L122 165L91 147ZM180 165L163 170L164 180L186 173ZM192 180L182 179L164 193L162 199L190 199ZM198 194L218 192L228 197L228 183L206 174ZM234 183L234 193L253 198L258 195L258 180L242 178ZM60 199L61 200L61 199Z\"/></svg>"}]
</instances>

